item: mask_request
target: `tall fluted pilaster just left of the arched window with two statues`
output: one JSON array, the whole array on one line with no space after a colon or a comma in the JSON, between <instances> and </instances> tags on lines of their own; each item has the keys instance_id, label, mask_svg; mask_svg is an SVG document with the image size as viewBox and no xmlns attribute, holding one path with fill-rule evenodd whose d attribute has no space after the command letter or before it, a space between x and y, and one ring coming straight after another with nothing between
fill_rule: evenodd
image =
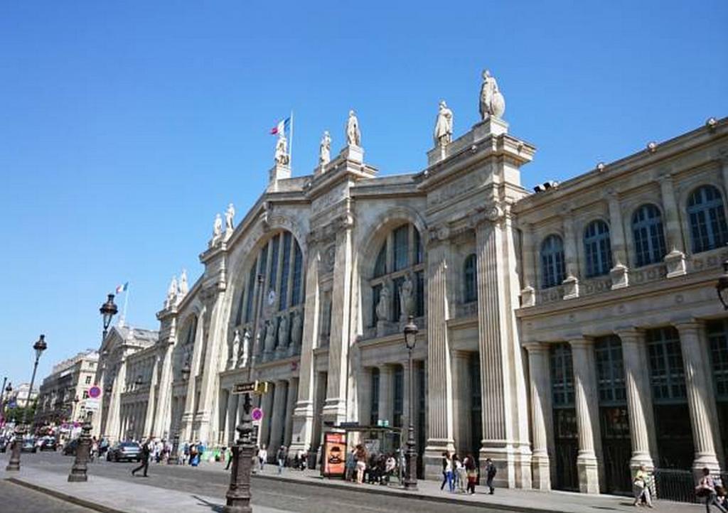
<instances>
[{"instance_id":1,"label":"tall fluted pilaster just left of the arched window with two statues","mask_svg":"<svg viewBox=\"0 0 728 513\"><path fill-rule=\"evenodd\" d=\"M347 223L336 234L336 263L333 266L331 333L328 346L328 385L323 406L325 420L338 424L347 418L347 361L349 358L349 315L352 290L352 226Z\"/></svg>"}]
</instances>

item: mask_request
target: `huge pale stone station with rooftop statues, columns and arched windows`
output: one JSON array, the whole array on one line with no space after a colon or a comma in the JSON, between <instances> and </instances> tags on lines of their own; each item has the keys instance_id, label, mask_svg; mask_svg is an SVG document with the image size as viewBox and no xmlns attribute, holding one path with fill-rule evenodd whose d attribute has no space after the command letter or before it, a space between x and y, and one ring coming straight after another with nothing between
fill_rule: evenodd
<instances>
[{"instance_id":1,"label":"huge pale stone station with rooftop statues, columns and arched windows","mask_svg":"<svg viewBox=\"0 0 728 513\"><path fill-rule=\"evenodd\" d=\"M269 454L406 426L412 391L426 477L443 450L492 458L500 485L588 493L630 465L725 468L728 120L529 194L535 148L502 108L438 132L414 174L380 177L354 144L311 175L277 163L237 226L215 223L202 277L170 286L159 337L104 342L100 433L127 436L109 419L132 411L136 435L227 445L232 387L257 379Z\"/></svg>"}]
</instances>

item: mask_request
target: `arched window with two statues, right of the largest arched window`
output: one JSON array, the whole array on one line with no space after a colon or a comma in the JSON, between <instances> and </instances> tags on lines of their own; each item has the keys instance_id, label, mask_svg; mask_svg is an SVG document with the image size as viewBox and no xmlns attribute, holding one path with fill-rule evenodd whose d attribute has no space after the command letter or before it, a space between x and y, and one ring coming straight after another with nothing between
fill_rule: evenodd
<instances>
[{"instance_id":1,"label":"arched window with two statues, right of the largest arched window","mask_svg":"<svg viewBox=\"0 0 728 513\"><path fill-rule=\"evenodd\" d=\"M370 326L424 315L422 239L413 224L402 224L387 234L377 252L369 285Z\"/></svg>"}]
</instances>

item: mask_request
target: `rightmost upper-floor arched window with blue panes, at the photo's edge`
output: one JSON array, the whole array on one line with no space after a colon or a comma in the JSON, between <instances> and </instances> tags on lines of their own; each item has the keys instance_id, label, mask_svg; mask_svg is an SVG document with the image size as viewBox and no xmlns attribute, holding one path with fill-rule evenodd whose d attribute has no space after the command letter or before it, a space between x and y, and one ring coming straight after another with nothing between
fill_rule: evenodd
<instances>
[{"instance_id":1,"label":"rightmost upper-floor arched window with blue panes, at the photo's edge","mask_svg":"<svg viewBox=\"0 0 728 513\"><path fill-rule=\"evenodd\" d=\"M720 191L701 186L687 200L692 252L714 250L728 242L728 226Z\"/></svg>"}]
</instances>

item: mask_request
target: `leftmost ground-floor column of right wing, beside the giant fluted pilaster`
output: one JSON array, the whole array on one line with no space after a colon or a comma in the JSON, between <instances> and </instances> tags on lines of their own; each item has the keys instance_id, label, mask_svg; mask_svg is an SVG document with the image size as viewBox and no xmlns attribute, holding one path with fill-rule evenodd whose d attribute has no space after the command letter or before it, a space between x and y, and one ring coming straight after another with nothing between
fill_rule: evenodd
<instances>
[{"instance_id":1,"label":"leftmost ground-floor column of right wing, beside the giant fluted pilaster","mask_svg":"<svg viewBox=\"0 0 728 513\"><path fill-rule=\"evenodd\" d=\"M548 346L538 342L524 344L529 351L531 377L531 432L533 453L531 469L537 490L551 489L550 453L553 453L553 417Z\"/></svg>"}]
</instances>

